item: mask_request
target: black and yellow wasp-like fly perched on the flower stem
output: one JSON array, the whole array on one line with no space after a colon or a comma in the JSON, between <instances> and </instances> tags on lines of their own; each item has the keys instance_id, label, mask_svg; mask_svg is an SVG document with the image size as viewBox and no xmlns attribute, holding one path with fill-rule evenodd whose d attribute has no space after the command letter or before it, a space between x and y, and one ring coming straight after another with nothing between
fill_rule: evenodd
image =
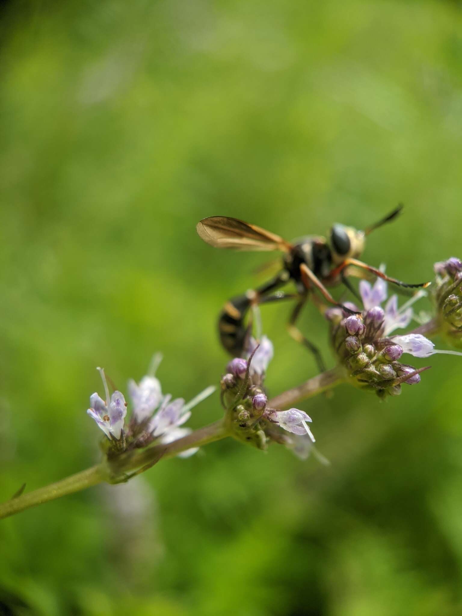
<instances>
[{"instance_id":1,"label":"black and yellow wasp-like fly perched on the flower stem","mask_svg":"<svg viewBox=\"0 0 462 616\"><path fill-rule=\"evenodd\" d=\"M294 243L237 218L210 216L198 222L199 236L215 248L248 251L278 250L284 253L282 270L277 276L255 290L229 299L224 305L219 315L218 328L225 350L234 357L243 354L249 335L249 329L245 326L245 317L253 304L280 299L297 299L287 324L288 331L292 338L308 347L315 355L320 370L324 370L322 357L317 347L309 342L295 325L303 305L315 289L330 304L340 306L346 312L352 313L351 309L339 304L326 288L343 283L352 293L356 294L347 275L362 278L375 274L395 285L408 288L425 288L430 284L426 282L411 285L401 282L357 258L364 249L366 236L377 227L394 220L401 209L402 206L399 206L391 214L364 231L342 224L334 224L330 230L329 239L310 235ZM296 294L286 294L281 291L274 293L290 280L296 286Z\"/></svg>"}]
</instances>

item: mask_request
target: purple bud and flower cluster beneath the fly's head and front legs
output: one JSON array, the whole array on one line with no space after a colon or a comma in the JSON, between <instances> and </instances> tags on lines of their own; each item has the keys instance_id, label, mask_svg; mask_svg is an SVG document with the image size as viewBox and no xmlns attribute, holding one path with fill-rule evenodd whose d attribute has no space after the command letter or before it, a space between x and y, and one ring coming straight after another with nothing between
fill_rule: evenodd
<instances>
[{"instance_id":1,"label":"purple bud and flower cluster beneath the fly's head and front legs","mask_svg":"<svg viewBox=\"0 0 462 616\"><path fill-rule=\"evenodd\" d=\"M397 328L406 327L413 318L411 304L424 296L418 291L404 306L398 308L396 295L387 299L387 285L378 278L375 285L360 283L364 310L360 312L353 304L347 308L356 314L333 308L326 310L331 323L331 343L334 352L346 369L347 377L362 389L375 391L379 397L399 395L401 385L414 385L420 381L420 373L428 367L415 368L402 362L402 355L429 357L434 344L421 334L391 335Z\"/></svg>"}]
</instances>

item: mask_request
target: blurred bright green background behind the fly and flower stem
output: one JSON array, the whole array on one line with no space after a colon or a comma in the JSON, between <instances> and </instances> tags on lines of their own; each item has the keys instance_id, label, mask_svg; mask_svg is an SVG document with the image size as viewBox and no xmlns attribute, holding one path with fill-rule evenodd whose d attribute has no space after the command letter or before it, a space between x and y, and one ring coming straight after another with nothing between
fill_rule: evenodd
<instances>
[{"instance_id":1,"label":"blurred bright green background behind the fly and flower stem","mask_svg":"<svg viewBox=\"0 0 462 616\"><path fill-rule=\"evenodd\" d=\"M462 256L456 2L0 10L2 500L98 459L97 365L126 389L160 350L165 392L219 381L217 311L265 256L213 251L202 217L291 238L403 201L368 262L418 282ZM270 394L316 373L289 310L262 310ZM314 307L301 326L333 365ZM329 468L224 440L1 522L0 613L461 614L461 362L432 357L387 403L302 404ZM219 416L215 395L190 425Z\"/></svg>"}]
</instances>

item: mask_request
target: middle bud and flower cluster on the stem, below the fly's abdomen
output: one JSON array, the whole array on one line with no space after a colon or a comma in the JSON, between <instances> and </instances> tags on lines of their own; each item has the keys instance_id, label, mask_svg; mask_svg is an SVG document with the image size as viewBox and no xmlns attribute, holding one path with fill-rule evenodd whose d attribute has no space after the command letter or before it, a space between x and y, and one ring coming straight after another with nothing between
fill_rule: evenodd
<instances>
[{"instance_id":1,"label":"middle bud and flower cluster on the stem, below the fly's abdomen","mask_svg":"<svg viewBox=\"0 0 462 616\"><path fill-rule=\"evenodd\" d=\"M268 405L264 378L272 356L272 342L266 336L260 344L251 338L246 358L236 357L227 365L221 379L227 428L236 439L259 449L274 440L306 458L315 440L307 424L310 417L298 408L283 411Z\"/></svg>"}]
</instances>

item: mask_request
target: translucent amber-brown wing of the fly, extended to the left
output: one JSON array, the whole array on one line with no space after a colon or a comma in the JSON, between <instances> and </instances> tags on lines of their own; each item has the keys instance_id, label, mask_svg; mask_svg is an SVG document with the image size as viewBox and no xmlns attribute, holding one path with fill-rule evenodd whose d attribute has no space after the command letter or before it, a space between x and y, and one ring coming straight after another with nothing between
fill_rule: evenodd
<instances>
[{"instance_id":1,"label":"translucent amber-brown wing of the fly, extended to the left","mask_svg":"<svg viewBox=\"0 0 462 616\"><path fill-rule=\"evenodd\" d=\"M199 237L215 248L233 250L287 252L288 242L261 227L228 216L210 216L198 222L196 230Z\"/></svg>"}]
</instances>

